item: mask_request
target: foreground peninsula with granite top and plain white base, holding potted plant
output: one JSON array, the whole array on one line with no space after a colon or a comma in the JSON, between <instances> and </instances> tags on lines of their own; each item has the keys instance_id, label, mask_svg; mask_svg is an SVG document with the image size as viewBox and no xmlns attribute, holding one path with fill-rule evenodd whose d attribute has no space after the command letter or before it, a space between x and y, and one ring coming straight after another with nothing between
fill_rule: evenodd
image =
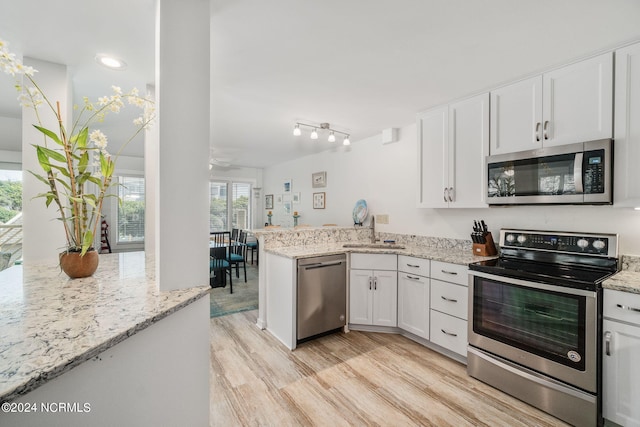
<instances>
[{"instance_id":1,"label":"foreground peninsula with granite top and plain white base, holding potted plant","mask_svg":"<svg viewBox=\"0 0 640 427\"><path fill-rule=\"evenodd\" d=\"M210 288L154 276L144 252L0 272L0 425L208 424Z\"/></svg>"}]
</instances>

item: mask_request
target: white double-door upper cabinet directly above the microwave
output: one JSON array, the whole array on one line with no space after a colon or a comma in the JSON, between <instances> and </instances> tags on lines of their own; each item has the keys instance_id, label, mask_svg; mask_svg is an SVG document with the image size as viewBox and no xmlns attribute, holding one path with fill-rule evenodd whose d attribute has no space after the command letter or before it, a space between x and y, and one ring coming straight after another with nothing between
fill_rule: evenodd
<instances>
[{"instance_id":1,"label":"white double-door upper cabinet directly above the microwave","mask_svg":"<svg viewBox=\"0 0 640 427\"><path fill-rule=\"evenodd\" d=\"M611 138L613 53L491 92L491 154Z\"/></svg>"}]
</instances>

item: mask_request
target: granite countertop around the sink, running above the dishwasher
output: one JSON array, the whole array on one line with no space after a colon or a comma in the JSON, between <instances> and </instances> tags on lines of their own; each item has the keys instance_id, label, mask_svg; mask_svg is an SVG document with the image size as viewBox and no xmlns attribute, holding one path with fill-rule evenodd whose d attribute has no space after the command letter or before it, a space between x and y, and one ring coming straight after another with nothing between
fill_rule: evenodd
<instances>
[{"instance_id":1,"label":"granite countertop around the sink, running above the dishwasher","mask_svg":"<svg viewBox=\"0 0 640 427\"><path fill-rule=\"evenodd\" d=\"M321 255L334 255L343 253L368 253L368 254L396 254L407 255L417 258L430 259L433 261L442 261L452 264L469 265L472 262L483 261L496 258L496 256L486 257L474 255L470 250L462 250L460 248L441 248L428 246L404 245L404 249L392 248L345 248L344 244L354 242L340 242L330 244L305 245L305 246L286 246L280 248L268 248L265 252L286 258L309 258Z\"/></svg>"}]
</instances>

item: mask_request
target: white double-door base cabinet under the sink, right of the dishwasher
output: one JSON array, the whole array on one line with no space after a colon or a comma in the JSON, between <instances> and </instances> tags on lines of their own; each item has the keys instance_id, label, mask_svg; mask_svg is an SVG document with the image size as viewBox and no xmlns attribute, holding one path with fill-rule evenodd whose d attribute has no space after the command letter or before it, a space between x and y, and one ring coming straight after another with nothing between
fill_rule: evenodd
<instances>
[{"instance_id":1,"label":"white double-door base cabinet under the sink, right of the dishwasher","mask_svg":"<svg viewBox=\"0 0 640 427\"><path fill-rule=\"evenodd\" d=\"M371 269L376 266L377 269ZM383 270L383 268L386 268ZM351 254L349 323L392 326L398 324L397 256Z\"/></svg>"}]
</instances>

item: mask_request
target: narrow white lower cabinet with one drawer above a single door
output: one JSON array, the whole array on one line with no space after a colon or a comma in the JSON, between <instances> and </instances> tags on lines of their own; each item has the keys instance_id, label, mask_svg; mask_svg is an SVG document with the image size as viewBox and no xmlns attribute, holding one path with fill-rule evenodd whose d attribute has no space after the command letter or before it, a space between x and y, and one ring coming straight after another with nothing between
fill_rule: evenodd
<instances>
[{"instance_id":1,"label":"narrow white lower cabinet with one drawer above a single door","mask_svg":"<svg viewBox=\"0 0 640 427\"><path fill-rule=\"evenodd\" d=\"M429 339L428 259L398 256L398 327Z\"/></svg>"}]
</instances>

